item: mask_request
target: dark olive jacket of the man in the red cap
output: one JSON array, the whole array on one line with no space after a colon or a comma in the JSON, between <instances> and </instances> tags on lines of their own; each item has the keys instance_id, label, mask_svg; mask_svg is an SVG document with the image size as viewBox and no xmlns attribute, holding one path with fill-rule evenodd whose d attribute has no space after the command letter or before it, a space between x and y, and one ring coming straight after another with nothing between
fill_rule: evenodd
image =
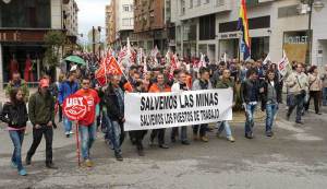
<instances>
[{"instance_id":1,"label":"dark olive jacket of the man in the red cap","mask_svg":"<svg viewBox=\"0 0 327 189\"><path fill-rule=\"evenodd\" d=\"M55 98L50 92L41 95L40 92L34 93L28 103L29 120L35 125L47 125L55 120Z\"/></svg>"}]
</instances>

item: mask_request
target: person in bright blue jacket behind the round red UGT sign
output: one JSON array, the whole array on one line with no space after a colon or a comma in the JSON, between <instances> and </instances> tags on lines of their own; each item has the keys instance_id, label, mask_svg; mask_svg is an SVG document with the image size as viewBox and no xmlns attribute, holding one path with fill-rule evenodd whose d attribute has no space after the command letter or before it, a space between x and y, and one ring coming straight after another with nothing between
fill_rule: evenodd
<instances>
[{"instance_id":1,"label":"person in bright blue jacket behind the round red UGT sign","mask_svg":"<svg viewBox=\"0 0 327 189\"><path fill-rule=\"evenodd\" d=\"M64 99L69 97L71 94L74 94L77 90L78 90L78 83L76 82L75 70L73 70L70 72L69 79L59 85L59 92L58 92L59 105L62 106ZM71 134L73 134L72 121L70 121L65 116L63 116L63 126L64 126L64 134L66 138L69 138Z\"/></svg>"}]
</instances>

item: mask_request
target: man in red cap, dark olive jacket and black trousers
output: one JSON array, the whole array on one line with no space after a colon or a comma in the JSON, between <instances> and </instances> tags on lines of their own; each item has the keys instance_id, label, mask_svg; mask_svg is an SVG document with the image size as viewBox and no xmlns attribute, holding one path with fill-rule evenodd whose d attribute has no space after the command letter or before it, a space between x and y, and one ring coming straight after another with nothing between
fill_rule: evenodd
<instances>
[{"instance_id":1,"label":"man in red cap, dark olive jacket and black trousers","mask_svg":"<svg viewBox=\"0 0 327 189\"><path fill-rule=\"evenodd\" d=\"M35 154L43 135L46 138L46 166L57 168L52 163L52 138L55 120L55 99L49 90L49 80L41 79L36 93L29 97L28 116L33 125L33 143L27 152L26 165L31 165L32 156Z\"/></svg>"}]
</instances>

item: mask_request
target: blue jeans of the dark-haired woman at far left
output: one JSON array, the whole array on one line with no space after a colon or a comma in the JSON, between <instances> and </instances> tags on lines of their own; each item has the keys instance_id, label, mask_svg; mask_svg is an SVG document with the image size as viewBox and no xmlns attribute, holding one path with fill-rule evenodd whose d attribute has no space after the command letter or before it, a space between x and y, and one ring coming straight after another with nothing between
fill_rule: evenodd
<instances>
[{"instance_id":1,"label":"blue jeans of the dark-haired woman at far left","mask_svg":"<svg viewBox=\"0 0 327 189\"><path fill-rule=\"evenodd\" d=\"M25 130L20 130L20 131L9 131L9 135L12 140L12 143L14 145L14 151L11 157L11 162L17 165L17 169L21 170L23 169L23 164L22 164L22 144L24 140L24 133Z\"/></svg>"}]
</instances>

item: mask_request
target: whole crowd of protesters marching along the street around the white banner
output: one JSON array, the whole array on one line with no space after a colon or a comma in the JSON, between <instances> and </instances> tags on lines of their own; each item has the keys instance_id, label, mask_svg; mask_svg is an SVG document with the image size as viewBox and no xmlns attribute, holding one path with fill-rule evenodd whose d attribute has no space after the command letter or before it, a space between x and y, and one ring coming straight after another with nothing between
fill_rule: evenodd
<instances>
[{"instance_id":1,"label":"whole crowd of protesters marching along the street around the white banner","mask_svg":"<svg viewBox=\"0 0 327 189\"><path fill-rule=\"evenodd\" d=\"M288 75L281 75L276 63L263 63L262 60L238 62L233 59L228 62L209 62L206 66L193 67L193 60L179 58L178 69L170 78L170 67L165 66L165 59L158 59L155 67L132 64L126 76L108 75L105 86L97 84L92 71L83 72L76 66L70 68L66 74L60 74L60 80L51 81L44 76L39 81L38 90L29 96L28 88L20 73L13 73L13 80L5 92L9 102L4 104L0 119L8 123L8 131L14 145L12 166L16 167L20 175L26 175L22 163L22 143L27 121L33 125L33 143L26 155L26 165L32 164L32 157L38 147L43 135L46 139L46 167L57 168L52 163L53 128L57 128L55 115L58 109L59 122L62 122L66 138L73 132L72 121L62 114L62 104L71 94L80 94L87 99L90 108L88 116L80 120L78 131L82 141L82 157L84 165L92 167L90 147L96 139L96 132L100 128L105 132L105 141L114 151L118 161L123 161L122 143L125 139L124 132L124 93L162 93L181 92L210 88L232 88L234 108L245 111L244 135L254 138L254 114L257 106L266 111L266 135L274 135L274 120L279 104L282 103L282 88L287 88L288 113L290 119L292 111L296 108L295 122L303 125L302 116L314 99L315 113L320 114L320 103L327 106L327 67L323 73L318 73L317 67L306 69L303 63L292 62L293 71ZM152 60L142 60L147 62ZM152 63L149 63L152 64ZM145 70L146 69L146 70ZM89 73L89 74L87 74ZM26 105L28 103L28 114ZM215 122L217 137L226 132L230 142L235 139L229 121ZM208 125L192 126L193 140L208 142L207 132L213 128ZM171 142L180 141L190 145L186 126L172 128L170 132ZM136 146L140 156L144 155L144 137L149 133L150 145L158 144L161 149L169 149L165 141L167 129L155 129L152 131L129 132L132 144ZM157 141L157 142L155 142Z\"/></svg>"}]
</instances>

